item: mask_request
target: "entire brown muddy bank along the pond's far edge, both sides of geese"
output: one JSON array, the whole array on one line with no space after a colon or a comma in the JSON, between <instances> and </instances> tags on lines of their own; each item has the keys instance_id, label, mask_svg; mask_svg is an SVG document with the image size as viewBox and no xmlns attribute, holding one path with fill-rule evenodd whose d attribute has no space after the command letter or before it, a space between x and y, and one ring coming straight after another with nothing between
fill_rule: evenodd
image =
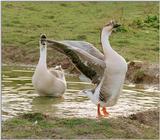
<instances>
[{"instance_id":1,"label":"entire brown muddy bank along the pond's far edge, both sides of geese","mask_svg":"<svg viewBox=\"0 0 160 140\"><path fill-rule=\"evenodd\" d=\"M39 59L39 48L20 48L16 46L2 47L2 63L4 64L30 64L36 65ZM49 67L62 65L71 73L80 72L71 64L63 54L48 48L47 64ZM150 64L142 61L128 62L126 83L158 84L159 64Z\"/></svg>"}]
</instances>

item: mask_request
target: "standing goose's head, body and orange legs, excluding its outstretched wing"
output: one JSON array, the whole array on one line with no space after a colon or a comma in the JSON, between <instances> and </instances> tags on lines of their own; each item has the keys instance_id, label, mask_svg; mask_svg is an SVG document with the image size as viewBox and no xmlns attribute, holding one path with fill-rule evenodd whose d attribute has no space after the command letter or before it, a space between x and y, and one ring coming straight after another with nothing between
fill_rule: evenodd
<instances>
[{"instance_id":1,"label":"standing goose's head, body and orange legs, excluding its outstretched wing","mask_svg":"<svg viewBox=\"0 0 160 140\"><path fill-rule=\"evenodd\" d=\"M88 95L91 101L97 105L98 117L102 116L100 106L102 107L103 115L108 116L109 113L106 111L106 107L116 104L122 91L127 72L127 63L125 59L113 50L109 43L109 36L111 35L113 28L118 26L118 24L111 21L103 27L101 33L101 43L106 68L104 70L103 77L95 90L83 91Z\"/></svg>"}]
</instances>

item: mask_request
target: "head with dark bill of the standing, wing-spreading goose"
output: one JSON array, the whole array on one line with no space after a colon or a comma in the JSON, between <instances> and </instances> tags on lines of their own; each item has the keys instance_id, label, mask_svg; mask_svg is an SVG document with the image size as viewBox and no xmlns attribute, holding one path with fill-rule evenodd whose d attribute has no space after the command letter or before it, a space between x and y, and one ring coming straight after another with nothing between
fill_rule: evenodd
<instances>
[{"instance_id":1,"label":"head with dark bill of the standing, wing-spreading goose","mask_svg":"<svg viewBox=\"0 0 160 140\"><path fill-rule=\"evenodd\" d=\"M119 27L119 26L120 26L120 24L118 24L117 22L111 20L109 23L107 23L107 24L103 27L102 31L105 31L106 33L108 33L108 35L110 35L110 34L112 33L112 31L113 31L115 28Z\"/></svg>"}]
</instances>

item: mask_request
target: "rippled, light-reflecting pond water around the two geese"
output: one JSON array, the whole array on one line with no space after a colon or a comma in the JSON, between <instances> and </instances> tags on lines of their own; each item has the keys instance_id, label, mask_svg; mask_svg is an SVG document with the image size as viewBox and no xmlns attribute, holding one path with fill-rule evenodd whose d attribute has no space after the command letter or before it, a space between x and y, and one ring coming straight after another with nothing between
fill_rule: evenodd
<instances>
[{"instance_id":1,"label":"rippled, light-reflecting pond water around the two geese","mask_svg":"<svg viewBox=\"0 0 160 140\"><path fill-rule=\"evenodd\" d=\"M97 108L80 91L94 87L76 75L66 73L67 90L63 98L40 97L31 77L34 67L2 67L2 121L26 112L41 112L56 117L96 118ZM158 107L156 86L124 85L117 104L109 107L109 117L128 116Z\"/></svg>"}]
</instances>

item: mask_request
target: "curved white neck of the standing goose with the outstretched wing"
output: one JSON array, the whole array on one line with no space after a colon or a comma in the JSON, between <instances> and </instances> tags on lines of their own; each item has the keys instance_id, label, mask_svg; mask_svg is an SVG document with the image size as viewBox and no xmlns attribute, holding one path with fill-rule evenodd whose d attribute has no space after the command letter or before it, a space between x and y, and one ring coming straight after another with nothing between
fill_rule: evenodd
<instances>
[{"instance_id":1,"label":"curved white neck of the standing goose with the outstretched wing","mask_svg":"<svg viewBox=\"0 0 160 140\"><path fill-rule=\"evenodd\" d=\"M105 58L113 52L113 49L111 48L111 45L109 43L109 35L110 34L105 29L102 30L101 43L102 43Z\"/></svg>"}]
</instances>

